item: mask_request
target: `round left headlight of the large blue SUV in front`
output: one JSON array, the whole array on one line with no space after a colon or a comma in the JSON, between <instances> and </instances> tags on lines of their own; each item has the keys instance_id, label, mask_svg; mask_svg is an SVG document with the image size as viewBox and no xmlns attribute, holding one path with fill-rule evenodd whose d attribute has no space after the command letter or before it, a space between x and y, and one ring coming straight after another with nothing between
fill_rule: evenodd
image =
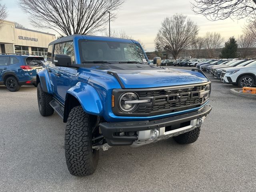
<instances>
[{"instance_id":1,"label":"round left headlight of the large blue SUV in front","mask_svg":"<svg viewBox=\"0 0 256 192\"><path fill-rule=\"evenodd\" d=\"M124 104L125 101L132 101L132 100L138 100L138 96L135 93L127 92L122 94L122 96L119 99L119 108L123 112L132 112L134 111L138 104Z\"/></svg>"}]
</instances>

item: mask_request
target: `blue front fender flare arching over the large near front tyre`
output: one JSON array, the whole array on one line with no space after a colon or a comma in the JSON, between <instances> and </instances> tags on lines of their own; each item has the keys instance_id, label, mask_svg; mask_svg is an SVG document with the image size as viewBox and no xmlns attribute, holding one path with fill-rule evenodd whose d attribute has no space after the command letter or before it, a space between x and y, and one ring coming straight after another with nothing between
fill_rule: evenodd
<instances>
[{"instance_id":1,"label":"blue front fender flare arching over the large near front tyre","mask_svg":"<svg viewBox=\"0 0 256 192\"><path fill-rule=\"evenodd\" d=\"M83 82L78 82L74 87L67 91L67 94L74 96L80 102L84 112L97 116L102 115L103 106L100 96L92 86Z\"/></svg>"}]
</instances>

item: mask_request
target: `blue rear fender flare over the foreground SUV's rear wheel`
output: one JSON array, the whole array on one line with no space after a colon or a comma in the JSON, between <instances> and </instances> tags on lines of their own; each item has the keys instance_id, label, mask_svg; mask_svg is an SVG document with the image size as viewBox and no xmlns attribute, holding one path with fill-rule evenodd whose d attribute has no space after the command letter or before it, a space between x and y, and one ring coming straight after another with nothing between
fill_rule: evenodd
<instances>
[{"instance_id":1,"label":"blue rear fender flare over the foreground SUV's rear wheel","mask_svg":"<svg viewBox=\"0 0 256 192\"><path fill-rule=\"evenodd\" d=\"M39 82L41 83L44 92L52 94L51 81L46 68L42 68L42 70L36 74L36 84Z\"/></svg>"}]
</instances>

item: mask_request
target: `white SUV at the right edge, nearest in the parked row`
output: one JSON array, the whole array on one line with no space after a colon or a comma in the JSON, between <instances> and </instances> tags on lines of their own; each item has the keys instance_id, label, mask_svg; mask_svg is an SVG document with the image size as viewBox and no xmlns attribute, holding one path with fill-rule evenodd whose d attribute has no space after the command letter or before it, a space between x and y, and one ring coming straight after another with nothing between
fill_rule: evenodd
<instances>
[{"instance_id":1,"label":"white SUV at the right edge, nearest in the parked row","mask_svg":"<svg viewBox=\"0 0 256 192\"><path fill-rule=\"evenodd\" d=\"M252 87L256 82L256 61L244 67L227 68L220 76L224 83L239 87Z\"/></svg>"}]
</instances>

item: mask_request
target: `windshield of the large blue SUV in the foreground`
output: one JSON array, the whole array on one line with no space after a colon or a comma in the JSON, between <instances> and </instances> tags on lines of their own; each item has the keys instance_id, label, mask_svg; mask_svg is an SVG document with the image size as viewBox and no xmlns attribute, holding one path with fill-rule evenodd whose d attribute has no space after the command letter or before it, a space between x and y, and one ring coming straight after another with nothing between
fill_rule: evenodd
<instances>
[{"instance_id":1,"label":"windshield of the large blue SUV in the foreground","mask_svg":"<svg viewBox=\"0 0 256 192\"><path fill-rule=\"evenodd\" d=\"M139 44L135 43L80 40L79 51L81 62L135 61L148 63L144 51Z\"/></svg>"}]
</instances>

